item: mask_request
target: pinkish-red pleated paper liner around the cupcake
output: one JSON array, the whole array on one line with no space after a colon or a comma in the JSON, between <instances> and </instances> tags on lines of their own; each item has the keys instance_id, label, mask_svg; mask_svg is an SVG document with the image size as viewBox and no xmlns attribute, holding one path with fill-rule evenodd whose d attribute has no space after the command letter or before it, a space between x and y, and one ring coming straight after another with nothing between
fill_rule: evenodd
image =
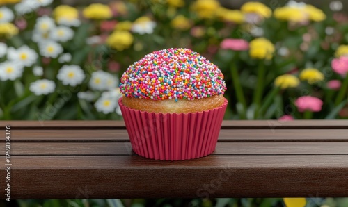
<instances>
[{"instance_id":1,"label":"pinkish-red pleated paper liner around the cupcake","mask_svg":"<svg viewBox=\"0 0 348 207\"><path fill-rule=\"evenodd\" d=\"M118 100L133 151L155 160L189 160L212 154L227 99L222 106L198 113L148 113Z\"/></svg>"}]
</instances>

